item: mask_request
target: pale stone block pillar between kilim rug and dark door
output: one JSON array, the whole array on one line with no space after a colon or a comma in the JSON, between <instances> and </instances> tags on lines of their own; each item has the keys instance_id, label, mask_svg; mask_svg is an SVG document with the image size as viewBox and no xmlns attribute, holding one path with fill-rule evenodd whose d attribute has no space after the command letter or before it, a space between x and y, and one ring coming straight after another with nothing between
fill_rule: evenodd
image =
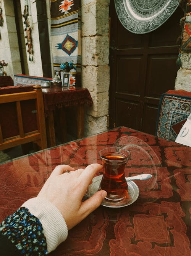
<instances>
[{"instance_id":1,"label":"pale stone block pillar between kilim rug and dark door","mask_svg":"<svg viewBox=\"0 0 191 256\"><path fill-rule=\"evenodd\" d=\"M93 99L93 106L86 111L86 136L108 128L109 3L110 0L82 0L81 4L82 87L89 90Z\"/></svg>"}]
</instances>

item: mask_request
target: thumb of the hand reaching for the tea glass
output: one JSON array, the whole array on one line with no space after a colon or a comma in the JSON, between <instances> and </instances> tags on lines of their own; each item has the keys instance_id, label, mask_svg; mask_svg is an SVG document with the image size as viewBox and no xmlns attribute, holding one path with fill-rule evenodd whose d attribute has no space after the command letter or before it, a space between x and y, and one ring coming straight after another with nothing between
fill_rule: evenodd
<instances>
[{"instance_id":1,"label":"thumb of the hand reaching for the tea glass","mask_svg":"<svg viewBox=\"0 0 191 256\"><path fill-rule=\"evenodd\" d=\"M104 198L107 196L105 190L97 191L92 197L81 204L81 214L86 218L92 211L100 206Z\"/></svg>"}]
</instances>

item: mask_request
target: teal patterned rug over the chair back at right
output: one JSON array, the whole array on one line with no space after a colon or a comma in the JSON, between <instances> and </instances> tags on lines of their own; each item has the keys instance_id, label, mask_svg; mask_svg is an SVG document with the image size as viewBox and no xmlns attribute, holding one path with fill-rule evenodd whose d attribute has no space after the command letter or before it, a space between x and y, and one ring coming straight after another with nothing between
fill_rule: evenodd
<instances>
[{"instance_id":1,"label":"teal patterned rug over the chair back at right","mask_svg":"<svg viewBox=\"0 0 191 256\"><path fill-rule=\"evenodd\" d=\"M190 113L191 92L169 90L162 94L155 135L163 139L175 141Z\"/></svg>"}]
</instances>

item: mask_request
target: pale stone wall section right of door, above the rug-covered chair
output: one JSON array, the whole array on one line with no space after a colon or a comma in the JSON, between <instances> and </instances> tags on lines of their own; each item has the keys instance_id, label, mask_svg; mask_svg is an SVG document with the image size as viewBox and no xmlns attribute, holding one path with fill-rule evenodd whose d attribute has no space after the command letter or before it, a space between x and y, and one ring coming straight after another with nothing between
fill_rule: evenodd
<instances>
[{"instance_id":1,"label":"pale stone wall section right of door, above the rug-covered chair","mask_svg":"<svg viewBox=\"0 0 191 256\"><path fill-rule=\"evenodd\" d=\"M191 92L191 53L182 53L182 67L177 72L175 90Z\"/></svg>"}]
</instances>

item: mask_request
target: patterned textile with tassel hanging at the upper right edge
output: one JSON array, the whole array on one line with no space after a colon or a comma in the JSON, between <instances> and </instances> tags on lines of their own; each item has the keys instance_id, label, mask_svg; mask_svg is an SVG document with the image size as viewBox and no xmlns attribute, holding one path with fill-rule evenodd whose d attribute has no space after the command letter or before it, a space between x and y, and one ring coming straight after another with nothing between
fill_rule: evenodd
<instances>
[{"instance_id":1,"label":"patterned textile with tassel hanging at the upper right edge","mask_svg":"<svg viewBox=\"0 0 191 256\"><path fill-rule=\"evenodd\" d=\"M181 0L181 8L184 10L184 17L180 20L182 26L180 36L180 51L176 61L177 67L181 67L181 53L182 51L191 52L191 0Z\"/></svg>"}]
</instances>

